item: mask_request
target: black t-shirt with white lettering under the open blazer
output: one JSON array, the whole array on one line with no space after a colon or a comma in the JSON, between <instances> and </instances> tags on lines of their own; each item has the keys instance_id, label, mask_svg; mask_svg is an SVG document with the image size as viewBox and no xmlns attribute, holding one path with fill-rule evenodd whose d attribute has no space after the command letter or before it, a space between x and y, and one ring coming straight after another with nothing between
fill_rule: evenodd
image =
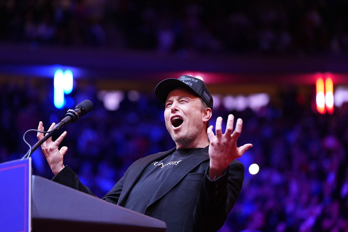
<instances>
[{"instance_id":1,"label":"black t-shirt with white lettering under the open blazer","mask_svg":"<svg viewBox=\"0 0 348 232\"><path fill-rule=\"evenodd\" d=\"M180 168L180 163L185 162L185 158L197 154L201 149L203 148L176 149L163 160L151 163L130 191L125 207L144 214L158 187L175 171L173 168Z\"/></svg>"}]
</instances>

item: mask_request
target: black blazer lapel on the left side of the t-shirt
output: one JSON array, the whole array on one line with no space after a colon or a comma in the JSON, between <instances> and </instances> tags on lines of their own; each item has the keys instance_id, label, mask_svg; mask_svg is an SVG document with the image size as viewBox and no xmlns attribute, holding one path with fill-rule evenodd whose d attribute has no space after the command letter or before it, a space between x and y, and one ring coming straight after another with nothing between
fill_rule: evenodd
<instances>
[{"instance_id":1,"label":"black blazer lapel on the left side of the t-shirt","mask_svg":"<svg viewBox=\"0 0 348 232\"><path fill-rule=\"evenodd\" d=\"M139 179L145 168L147 168L152 162L156 160L164 159L167 155L173 153L175 149L176 147L169 151L159 152L153 155L148 155L147 157L144 157L142 159L136 160L132 165L133 167L129 169L129 173L126 176L118 205L124 205L130 190L132 190L133 186L136 184L137 180Z\"/></svg>"}]
</instances>

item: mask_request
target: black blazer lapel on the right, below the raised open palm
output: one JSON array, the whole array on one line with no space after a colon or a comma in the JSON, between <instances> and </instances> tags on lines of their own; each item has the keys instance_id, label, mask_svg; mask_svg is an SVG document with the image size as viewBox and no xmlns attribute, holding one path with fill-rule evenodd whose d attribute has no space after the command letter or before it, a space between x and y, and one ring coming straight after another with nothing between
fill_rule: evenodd
<instances>
[{"instance_id":1,"label":"black blazer lapel on the right, below the raised open palm","mask_svg":"<svg viewBox=\"0 0 348 232\"><path fill-rule=\"evenodd\" d=\"M181 165L176 165L172 169L174 175L168 175L162 184L158 187L157 191L153 195L152 199L149 202L148 207L166 193L168 193L173 187L179 183L182 178L184 178L192 169L197 167L200 163L209 159L208 147L202 149L198 154L191 155L185 158L185 162L182 162Z\"/></svg>"}]
</instances>

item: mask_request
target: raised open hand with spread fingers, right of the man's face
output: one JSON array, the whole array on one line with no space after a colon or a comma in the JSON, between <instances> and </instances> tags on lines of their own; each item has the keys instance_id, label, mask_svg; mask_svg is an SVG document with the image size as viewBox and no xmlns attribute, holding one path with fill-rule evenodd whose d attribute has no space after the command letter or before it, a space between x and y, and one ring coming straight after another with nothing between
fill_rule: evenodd
<instances>
[{"instance_id":1,"label":"raised open hand with spread fingers, right of the man's face","mask_svg":"<svg viewBox=\"0 0 348 232\"><path fill-rule=\"evenodd\" d=\"M213 126L207 129L209 145L209 176L213 180L214 177L219 177L223 174L223 171L229 166L229 164L235 159L241 157L250 147L253 145L248 143L243 146L237 147L237 139L242 132L243 121L238 119L236 128L233 131L234 116L228 115L226 131L222 134L222 118L216 119L215 133L213 132ZM233 133L232 133L233 131ZM232 134L231 134L232 133Z\"/></svg>"}]
</instances>

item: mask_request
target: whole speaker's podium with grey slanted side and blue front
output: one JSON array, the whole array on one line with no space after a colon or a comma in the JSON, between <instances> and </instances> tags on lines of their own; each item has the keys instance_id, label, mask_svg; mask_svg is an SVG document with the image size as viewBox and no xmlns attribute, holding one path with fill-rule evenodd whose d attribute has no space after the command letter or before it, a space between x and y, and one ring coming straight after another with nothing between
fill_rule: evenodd
<instances>
[{"instance_id":1,"label":"whole speaker's podium with grey slanted side and blue front","mask_svg":"<svg viewBox=\"0 0 348 232\"><path fill-rule=\"evenodd\" d=\"M166 231L158 219L31 175L31 160L0 164L1 231Z\"/></svg>"}]
</instances>

